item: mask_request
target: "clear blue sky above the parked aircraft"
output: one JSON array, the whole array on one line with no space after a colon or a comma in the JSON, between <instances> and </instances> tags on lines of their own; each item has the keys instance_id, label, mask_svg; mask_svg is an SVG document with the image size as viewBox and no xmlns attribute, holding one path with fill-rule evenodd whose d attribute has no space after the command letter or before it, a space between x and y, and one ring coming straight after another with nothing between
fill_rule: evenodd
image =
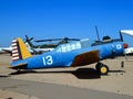
<instances>
[{"instance_id":1,"label":"clear blue sky above the parked aircraft","mask_svg":"<svg viewBox=\"0 0 133 99\"><path fill-rule=\"evenodd\" d=\"M0 0L0 46L24 35L39 38L119 37L133 29L133 0ZM133 37L123 35L133 46Z\"/></svg>"}]
</instances>

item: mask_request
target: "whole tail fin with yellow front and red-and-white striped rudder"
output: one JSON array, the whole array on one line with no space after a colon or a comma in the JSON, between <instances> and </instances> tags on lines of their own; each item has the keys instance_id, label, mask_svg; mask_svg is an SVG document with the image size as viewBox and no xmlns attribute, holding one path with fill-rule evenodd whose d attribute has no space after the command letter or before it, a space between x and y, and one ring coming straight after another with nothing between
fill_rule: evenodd
<instances>
[{"instance_id":1,"label":"whole tail fin with yellow front and red-and-white striped rudder","mask_svg":"<svg viewBox=\"0 0 133 99\"><path fill-rule=\"evenodd\" d=\"M31 57L24 42L18 37L12 41L12 62Z\"/></svg>"}]
</instances>

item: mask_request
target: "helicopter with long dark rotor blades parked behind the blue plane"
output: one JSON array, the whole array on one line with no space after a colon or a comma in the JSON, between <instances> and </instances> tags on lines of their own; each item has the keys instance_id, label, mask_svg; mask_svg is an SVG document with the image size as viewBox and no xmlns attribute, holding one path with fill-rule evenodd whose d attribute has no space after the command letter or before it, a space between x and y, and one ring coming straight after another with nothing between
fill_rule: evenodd
<instances>
[{"instance_id":1,"label":"helicopter with long dark rotor blades parked behind the blue plane","mask_svg":"<svg viewBox=\"0 0 133 99\"><path fill-rule=\"evenodd\" d=\"M79 38L69 38L69 37L49 38L49 40L38 40L38 41L34 41L34 42L37 42L37 43L40 43L40 42L55 42L55 44L33 45L31 43L32 40L33 40L33 37L29 38L28 35L25 35L25 45L33 52L33 54L42 54L42 53L45 53L45 52L53 51L60 44L69 43L70 41L80 41Z\"/></svg>"}]
</instances>

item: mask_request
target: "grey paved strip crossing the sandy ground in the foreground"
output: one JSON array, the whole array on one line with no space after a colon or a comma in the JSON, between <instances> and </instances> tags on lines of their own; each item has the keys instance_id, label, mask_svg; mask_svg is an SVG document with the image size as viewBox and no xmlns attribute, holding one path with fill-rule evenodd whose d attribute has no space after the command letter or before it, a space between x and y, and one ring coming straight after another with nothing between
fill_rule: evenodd
<instances>
[{"instance_id":1,"label":"grey paved strip crossing the sandy ground in the foreground","mask_svg":"<svg viewBox=\"0 0 133 99\"><path fill-rule=\"evenodd\" d=\"M0 89L17 91L41 99L133 99L133 96L75 88L63 85L0 78ZM10 99L13 99L10 97Z\"/></svg>"}]
</instances>

